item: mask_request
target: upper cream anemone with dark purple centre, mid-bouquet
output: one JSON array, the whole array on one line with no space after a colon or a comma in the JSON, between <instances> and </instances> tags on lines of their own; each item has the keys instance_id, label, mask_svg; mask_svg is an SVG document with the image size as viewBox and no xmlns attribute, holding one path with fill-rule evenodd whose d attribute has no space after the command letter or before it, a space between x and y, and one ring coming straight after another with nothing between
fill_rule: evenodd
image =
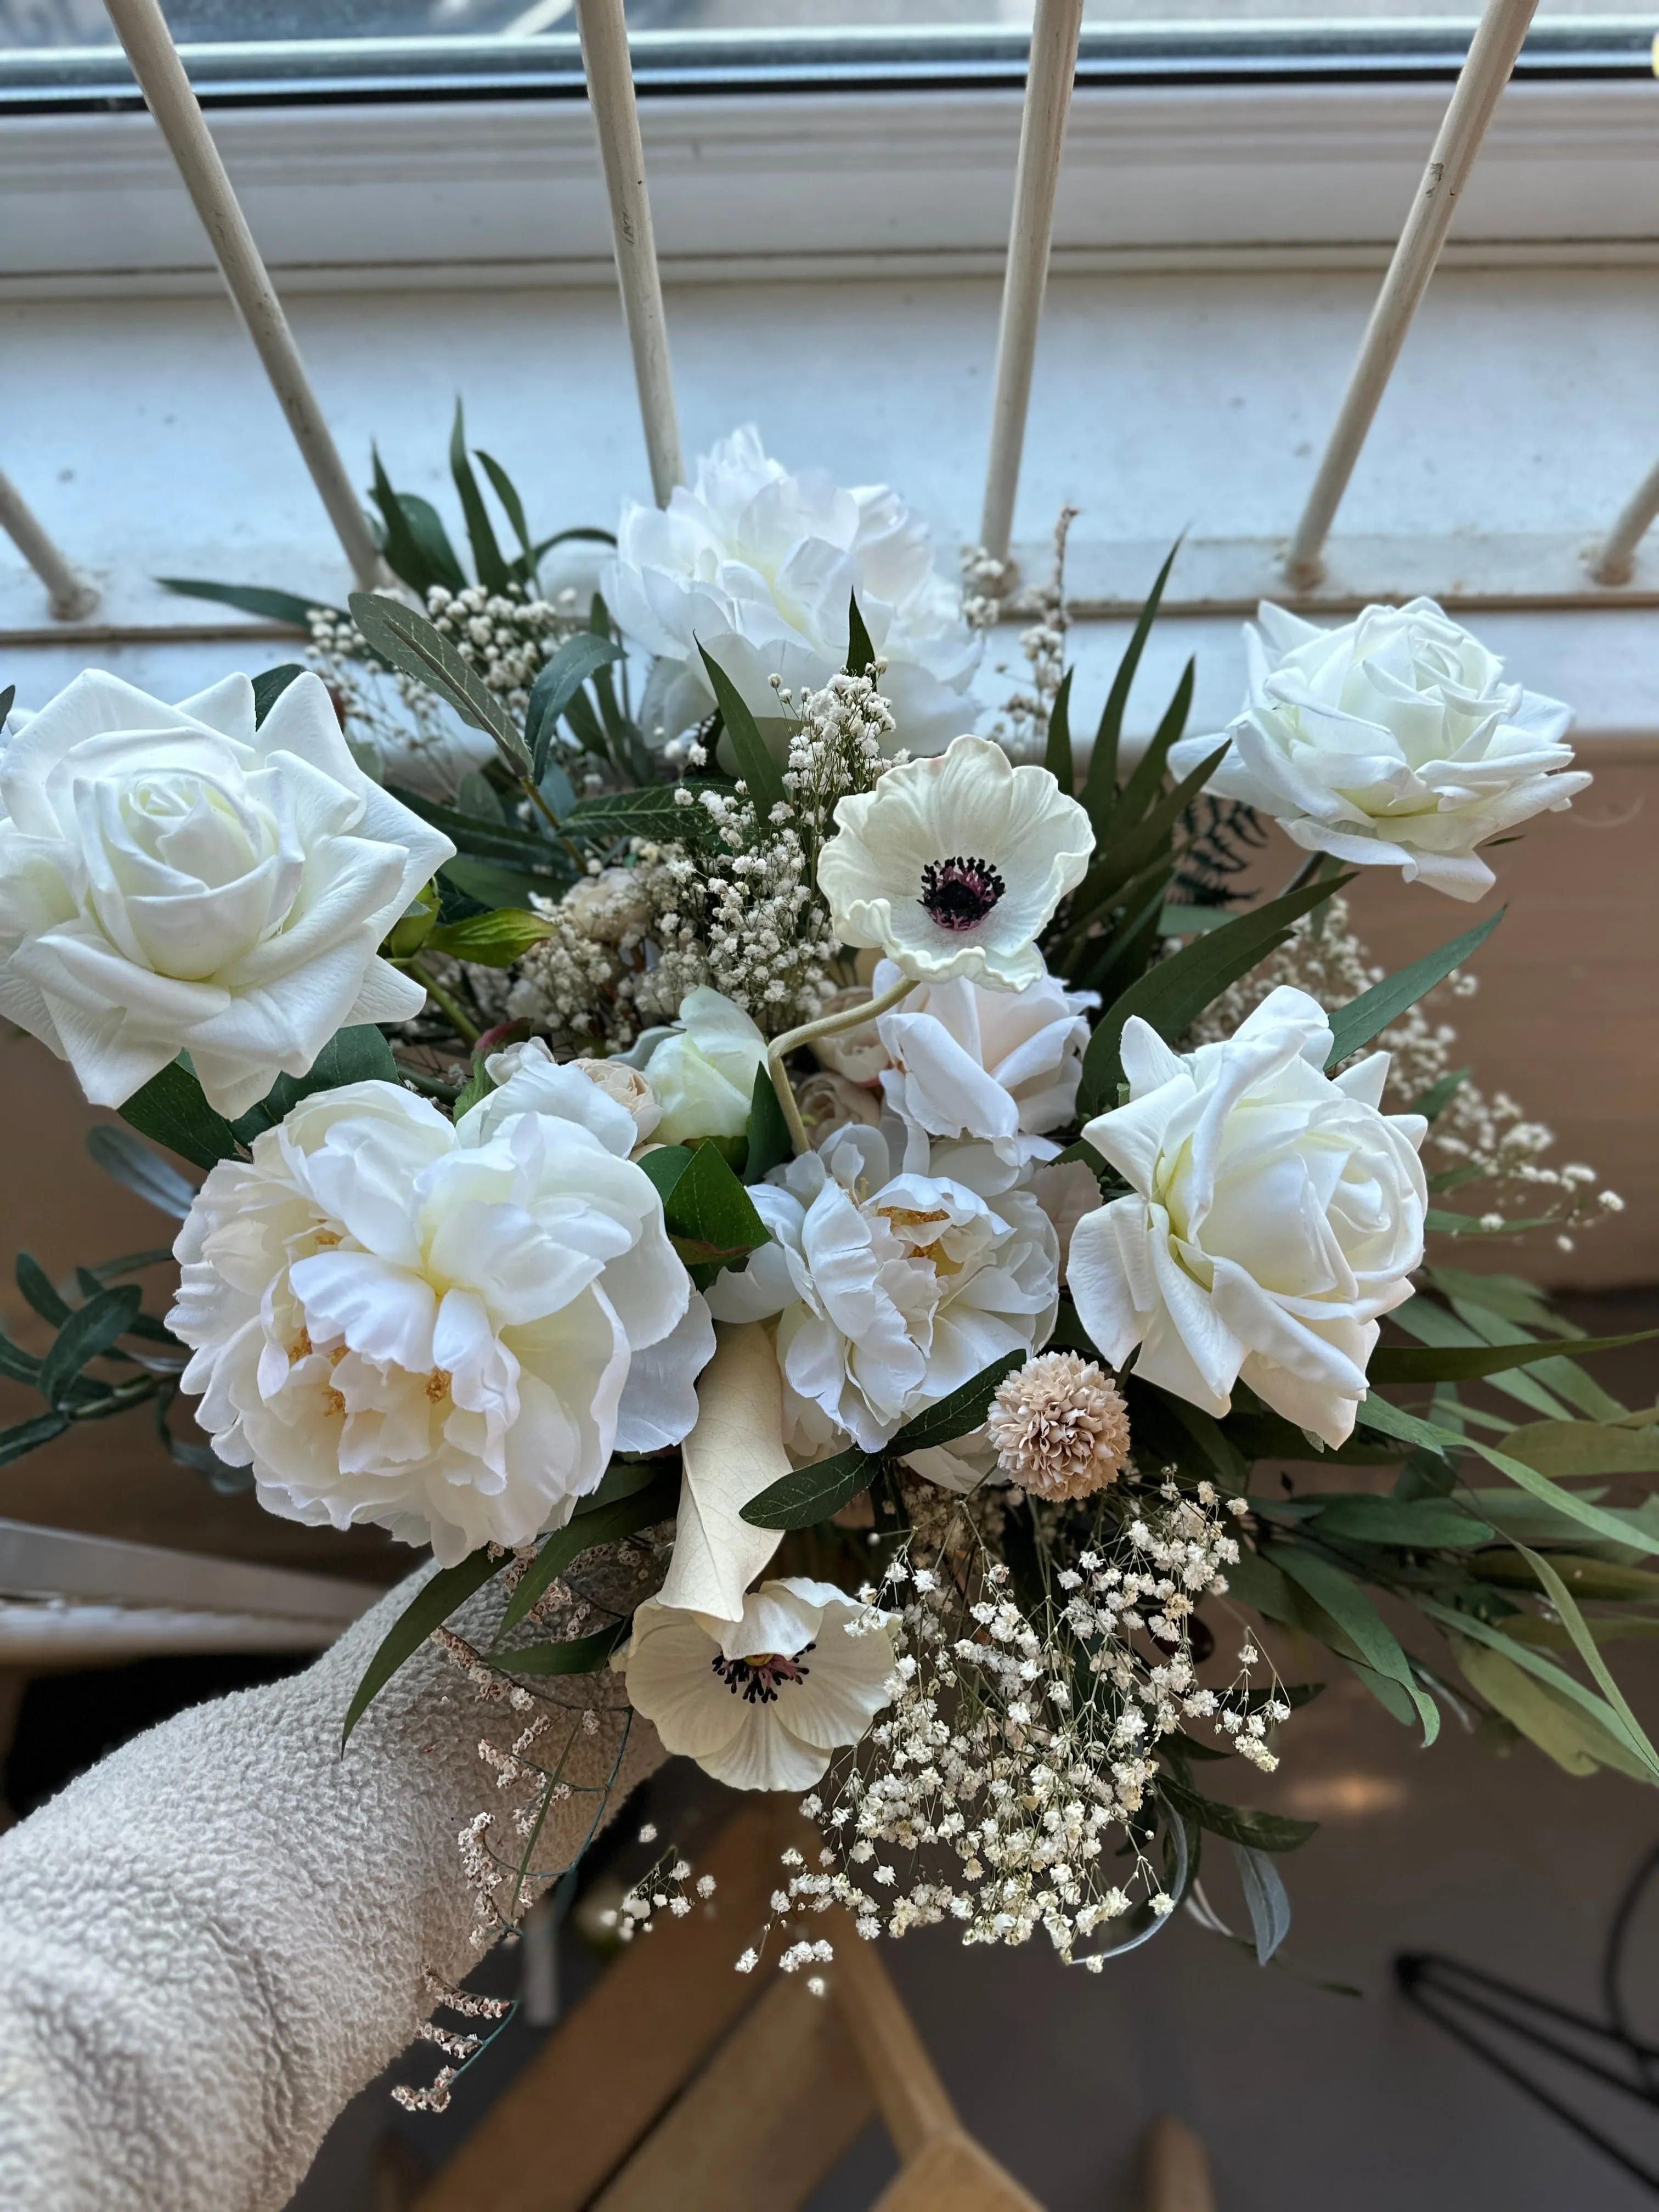
<instances>
[{"instance_id":1,"label":"upper cream anemone with dark purple centre, mid-bouquet","mask_svg":"<svg viewBox=\"0 0 1659 2212\"><path fill-rule=\"evenodd\" d=\"M914 982L1020 991L1044 973L1035 938L1093 849L1088 814L1046 768L956 737L836 805L818 889L843 945L876 947Z\"/></svg>"}]
</instances>

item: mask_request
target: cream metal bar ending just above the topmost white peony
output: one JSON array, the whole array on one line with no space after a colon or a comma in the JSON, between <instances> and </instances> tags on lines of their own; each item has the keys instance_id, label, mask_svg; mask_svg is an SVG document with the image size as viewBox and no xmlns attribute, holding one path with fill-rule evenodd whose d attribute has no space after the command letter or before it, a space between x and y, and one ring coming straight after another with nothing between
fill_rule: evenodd
<instances>
[{"instance_id":1,"label":"cream metal bar ending just above the topmost white peony","mask_svg":"<svg viewBox=\"0 0 1659 2212\"><path fill-rule=\"evenodd\" d=\"M675 484L686 482L679 456L679 416L675 414L675 376L668 365L668 319L661 303L657 239L650 228L650 195L646 192L646 150L639 144L639 108L633 97L628 66L628 29L622 0L575 0L582 33L582 66L588 75L588 102L599 128L599 159L611 195L611 232L617 246L617 281L622 314L633 345L633 374L639 385L639 420L650 458L650 489L657 507L668 504Z\"/></svg>"}]
</instances>

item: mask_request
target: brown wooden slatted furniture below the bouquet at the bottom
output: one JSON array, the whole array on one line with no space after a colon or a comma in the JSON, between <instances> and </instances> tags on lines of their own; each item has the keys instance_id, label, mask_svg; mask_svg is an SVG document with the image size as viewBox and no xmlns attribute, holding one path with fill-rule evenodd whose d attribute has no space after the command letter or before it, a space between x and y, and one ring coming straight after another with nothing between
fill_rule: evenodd
<instances>
[{"instance_id":1,"label":"brown wooden slatted furniture below the bouquet at the bottom","mask_svg":"<svg viewBox=\"0 0 1659 2212\"><path fill-rule=\"evenodd\" d=\"M734 1973L799 1832L785 1801L745 1805L701 1863L710 1907L635 1938L411 2212L792 2212L876 2115L900 2170L874 2212L1042 2212L843 1916L810 1922L836 1947L823 1997Z\"/></svg>"}]
</instances>

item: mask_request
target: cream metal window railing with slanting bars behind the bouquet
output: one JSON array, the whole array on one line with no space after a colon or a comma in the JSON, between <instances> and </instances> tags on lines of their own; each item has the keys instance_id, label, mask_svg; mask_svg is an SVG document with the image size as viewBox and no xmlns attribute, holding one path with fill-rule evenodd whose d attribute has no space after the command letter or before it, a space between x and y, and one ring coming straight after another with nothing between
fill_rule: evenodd
<instances>
[{"instance_id":1,"label":"cream metal window railing with slanting bars behind the bouquet","mask_svg":"<svg viewBox=\"0 0 1659 2212\"><path fill-rule=\"evenodd\" d=\"M155 115L179 177L195 201L226 283L254 341L296 445L334 522L345 555L361 582L387 582L363 511L330 438L299 349L259 257L248 221L237 204L223 161L212 144L201 106L190 91L157 0L106 0L144 97ZM1175 604L1188 611L1221 611L1254 595L1265 582L1310 606L1349 604L1367 577L1325 577L1325 546L1332 520L1347 491L1354 465L1387 392L1418 305L1429 288L1458 199L1469 181L1498 100L1511 77L1535 0L1486 0L1478 31L1451 93L1440 135L1422 184L1407 215L1387 276L1378 292L1360 352L1349 376L1307 504L1287 546L1261 542L1210 549L1208 584L1183 591ZM1026 97L1013 195L1009 250L1004 261L998 369L991 403L991 436L984 482L982 544L998 560L1009 557L1031 380L1042 319L1044 281L1053 239L1055 192L1075 77L1082 0L1037 0L1026 71ZM628 38L622 0L575 0L588 97L599 137L606 197L617 261L622 307L633 347L639 416L650 460L653 491L666 502L684 482L684 458L668 358L668 325L650 223L646 164L639 137ZM1526 575L1506 577L1504 553L1473 573L1469 544L1455 549L1449 575L1451 597L1464 604L1648 604L1652 588L1632 588L1637 544L1659 515L1659 467L1626 504L1588 564L1577 546L1551 542L1526 555ZM84 619L88 586L75 577L29 511L0 478L0 524L11 531L35 573L46 582L58 619ZM1338 540L1338 544L1343 544ZM1402 542L1405 544L1405 542ZM1425 542L1425 551L1429 544ZM1199 555L1192 542L1183 566ZM1398 564L1398 549L1389 555ZM1528 566L1531 564L1531 566ZM1115 564L1113 564L1115 566ZM1352 560L1343 562L1354 568ZM1431 560L1425 568L1436 566ZM1263 571L1274 568L1274 577ZM1394 577L1385 591L1394 588ZM1425 573L1409 588L1442 588ZM1385 595L1371 591L1369 595ZM1104 586L1082 593L1091 613L1115 613L1119 593Z\"/></svg>"}]
</instances>

